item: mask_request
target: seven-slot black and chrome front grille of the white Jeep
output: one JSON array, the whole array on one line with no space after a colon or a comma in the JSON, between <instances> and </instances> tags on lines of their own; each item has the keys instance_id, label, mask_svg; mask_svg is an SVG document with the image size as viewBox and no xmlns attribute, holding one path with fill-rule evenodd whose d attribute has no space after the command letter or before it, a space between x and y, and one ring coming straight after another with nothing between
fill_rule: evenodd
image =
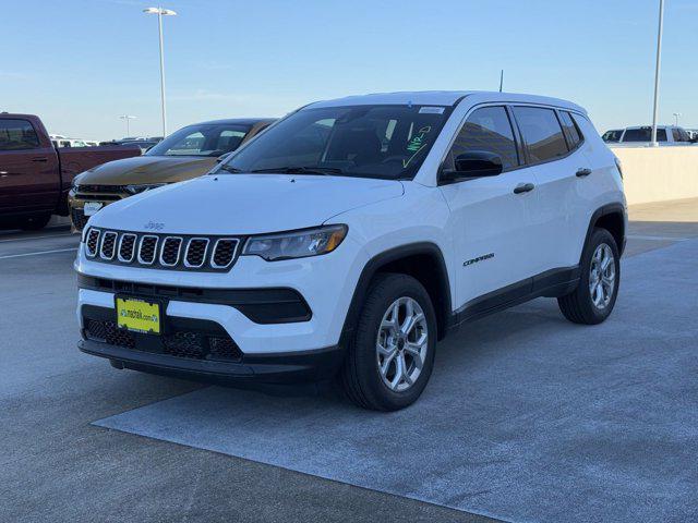
<instances>
[{"instance_id":1,"label":"seven-slot black and chrome front grille of the white Jeep","mask_svg":"<svg viewBox=\"0 0 698 523\"><path fill-rule=\"evenodd\" d=\"M89 228L85 255L97 262L157 269L229 270L240 251L238 238L110 231Z\"/></svg>"}]
</instances>

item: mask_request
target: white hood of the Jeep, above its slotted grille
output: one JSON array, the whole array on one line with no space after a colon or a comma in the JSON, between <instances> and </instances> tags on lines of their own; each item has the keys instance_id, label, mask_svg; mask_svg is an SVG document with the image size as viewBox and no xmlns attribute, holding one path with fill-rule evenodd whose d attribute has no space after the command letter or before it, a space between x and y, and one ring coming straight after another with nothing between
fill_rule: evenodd
<instances>
[{"instance_id":1,"label":"white hood of the Jeep, above its slotted grille","mask_svg":"<svg viewBox=\"0 0 698 523\"><path fill-rule=\"evenodd\" d=\"M177 234L258 234L314 227L395 198L398 181L297 174L218 174L122 199L89 224Z\"/></svg>"}]
</instances>

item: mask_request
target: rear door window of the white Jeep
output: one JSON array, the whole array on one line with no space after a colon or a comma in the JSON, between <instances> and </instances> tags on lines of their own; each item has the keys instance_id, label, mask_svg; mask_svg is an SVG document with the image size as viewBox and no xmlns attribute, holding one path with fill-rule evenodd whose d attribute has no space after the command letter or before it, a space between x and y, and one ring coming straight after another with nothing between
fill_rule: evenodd
<instances>
[{"instance_id":1,"label":"rear door window of the white Jeep","mask_svg":"<svg viewBox=\"0 0 698 523\"><path fill-rule=\"evenodd\" d=\"M528 150L530 163L554 160L568 153L559 121L552 109L514 107L514 114Z\"/></svg>"}]
</instances>

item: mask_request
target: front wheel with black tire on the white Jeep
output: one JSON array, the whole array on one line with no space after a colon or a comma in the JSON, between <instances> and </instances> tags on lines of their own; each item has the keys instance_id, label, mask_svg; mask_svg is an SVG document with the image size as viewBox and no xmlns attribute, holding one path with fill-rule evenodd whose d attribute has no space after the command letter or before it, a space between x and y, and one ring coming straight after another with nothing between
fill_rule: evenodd
<instances>
[{"instance_id":1,"label":"front wheel with black tire on the white Jeep","mask_svg":"<svg viewBox=\"0 0 698 523\"><path fill-rule=\"evenodd\" d=\"M396 303L397 323L394 321ZM407 327L410 311L413 327L405 337L397 329ZM436 336L436 314L424 287L407 275L376 276L359 313L339 373L346 394L357 405L375 411L397 411L412 404L431 376ZM381 366L387 369L385 374L381 373ZM405 372L399 372L400 368Z\"/></svg>"}]
</instances>

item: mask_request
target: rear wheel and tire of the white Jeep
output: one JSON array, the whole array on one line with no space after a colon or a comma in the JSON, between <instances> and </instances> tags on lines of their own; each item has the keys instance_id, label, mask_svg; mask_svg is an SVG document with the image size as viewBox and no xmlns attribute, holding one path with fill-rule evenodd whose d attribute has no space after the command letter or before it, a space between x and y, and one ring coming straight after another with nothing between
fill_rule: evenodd
<instances>
[{"instance_id":1,"label":"rear wheel and tire of the white Jeep","mask_svg":"<svg viewBox=\"0 0 698 523\"><path fill-rule=\"evenodd\" d=\"M601 254L599 254L601 253ZM600 260L612 255L605 270L599 272ZM594 256L601 256L595 258ZM615 306L621 283L621 256L613 235L605 229L594 229L585 245L579 284L571 293L557 299L563 315L575 324L597 325L605 320ZM611 275L613 276L612 282ZM598 283L594 283L598 281ZM593 293L592 293L593 289Z\"/></svg>"}]
</instances>

